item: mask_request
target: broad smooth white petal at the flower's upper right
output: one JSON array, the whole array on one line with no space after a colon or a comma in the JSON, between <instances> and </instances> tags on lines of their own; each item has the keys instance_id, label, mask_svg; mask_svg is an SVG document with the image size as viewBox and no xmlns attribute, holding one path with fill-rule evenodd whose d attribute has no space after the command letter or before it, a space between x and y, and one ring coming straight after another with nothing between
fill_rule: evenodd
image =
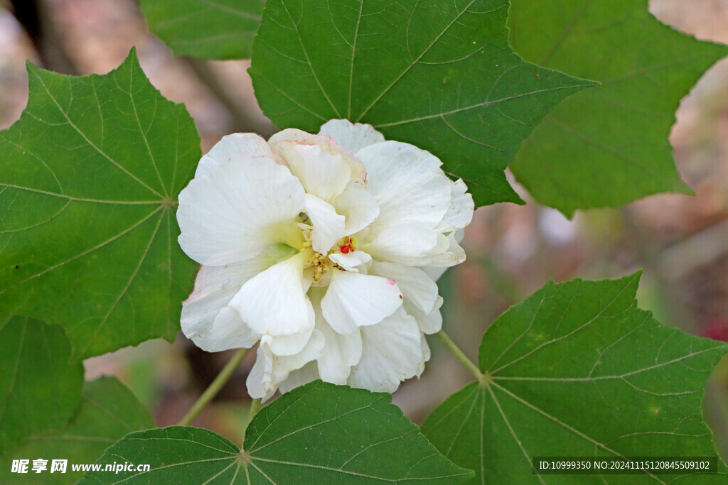
<instances>
[{"instance_id":1,"label":"broad smooth white petal at the flower's upper right","mask_svg":"<svg viewBox=\"0 0 728 485\"><path fill-rule=\"evenodd\" d=\"M387 141L357 152L379 204L374 228L402 223L435 228L451 205L452 185L440 160L414 145Z\"/></svg>"}]
</instances>

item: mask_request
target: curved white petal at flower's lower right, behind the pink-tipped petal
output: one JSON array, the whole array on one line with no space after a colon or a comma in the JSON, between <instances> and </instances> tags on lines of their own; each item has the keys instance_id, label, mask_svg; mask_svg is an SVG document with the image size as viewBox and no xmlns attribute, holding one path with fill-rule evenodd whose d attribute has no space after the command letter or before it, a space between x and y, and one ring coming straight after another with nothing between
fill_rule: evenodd
<instances>
[{"instance_id":1,"label":"curved white petal at flower's lower right, behind the pink-tipped petal","mask_svg":"<svg viewBox=\"0 0 728 485\"><path fill-rule=\"evenodd\" d=\"M405 303L411 302L425 313L430 313L435 308L438 300L438 285L423 270L398 265L395 262L375 261L369 267L368 274L384 276L397 281Z\"/></svg>"}]
</instances>

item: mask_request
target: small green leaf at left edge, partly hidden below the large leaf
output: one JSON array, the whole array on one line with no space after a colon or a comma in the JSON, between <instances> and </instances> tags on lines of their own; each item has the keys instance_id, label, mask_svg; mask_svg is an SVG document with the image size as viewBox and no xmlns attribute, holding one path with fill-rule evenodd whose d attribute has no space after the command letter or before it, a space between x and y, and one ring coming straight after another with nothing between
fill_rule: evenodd
<instances>
[{"instance_id":1,"label":"small green leaf at left edge, partly hidden below the large leaf","mask_svg":"<svg viewBox=\"0 0 728 485\"><path fill-rule=\"evenodd\" d=\"M58 326L16 316L0 325L0 454L26 436L63 428L81 398L83 364Z\"/></svg>"}]
</instances>

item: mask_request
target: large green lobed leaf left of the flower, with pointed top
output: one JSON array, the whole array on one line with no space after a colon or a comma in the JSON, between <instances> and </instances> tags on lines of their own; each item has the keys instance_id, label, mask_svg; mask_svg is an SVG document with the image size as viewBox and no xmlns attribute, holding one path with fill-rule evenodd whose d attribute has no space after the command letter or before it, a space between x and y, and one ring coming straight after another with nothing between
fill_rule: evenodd
<instances>
[{"instance_id":1,"label":"large green lobed leaf left of the flower, with pointed top","mask_svg":"<svg viewBox=\"0 0 728 485\"><path fill-rule=\"evenodd\" d=\"M0 315L60 324L77 359L171 340L197 268L175 220L200 156L192 119L133 51L104 76L28 76L28 107L0 132Z\"/></svg>"}]
</instances>

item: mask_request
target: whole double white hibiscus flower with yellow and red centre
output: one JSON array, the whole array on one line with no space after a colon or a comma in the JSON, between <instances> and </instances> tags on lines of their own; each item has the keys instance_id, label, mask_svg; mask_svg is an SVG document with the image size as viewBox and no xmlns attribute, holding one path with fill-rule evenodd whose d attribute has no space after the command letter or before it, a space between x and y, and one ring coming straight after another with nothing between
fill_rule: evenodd
<instances>
[{"instance_id":1,"label":"whole double white hibiscus flower with yellow and red centre","mask_svg":"<svg viewBox=\"0 0 728 485\"><path fill-rule=\"evenodd\" d=\"M223 137L179 196L179 242L202 264L184 334L210 352L259 342L254 398L319 378L392 392L419 377L424 334L442 325L435 280L464 261L473 212L440 165L345 120L267 143Z\"/></svg>"}]
</instances>

